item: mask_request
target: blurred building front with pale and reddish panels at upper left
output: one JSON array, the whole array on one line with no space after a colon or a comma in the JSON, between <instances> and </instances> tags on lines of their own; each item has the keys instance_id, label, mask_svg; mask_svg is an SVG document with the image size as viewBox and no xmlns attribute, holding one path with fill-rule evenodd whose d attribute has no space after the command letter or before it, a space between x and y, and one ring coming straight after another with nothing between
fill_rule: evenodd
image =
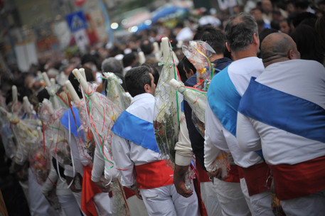
<instances>
[{"instance_id":1,"label":"blurred building front with pale and reddish panels at upper left","mask_svg":"<svg viewBox=\"0 0 325 216\"><path fill-rule=\"evenodd\" d=\"M118 0L0 0L0 68L17 64L27 71L42 58L59 58L62 50L78 45L67 16L82 11L87 44L107 41L103 11ZM109 4L106 4L109 3ZM82 19L82 20L83 20Z\"/></svg>"}]
</instances>

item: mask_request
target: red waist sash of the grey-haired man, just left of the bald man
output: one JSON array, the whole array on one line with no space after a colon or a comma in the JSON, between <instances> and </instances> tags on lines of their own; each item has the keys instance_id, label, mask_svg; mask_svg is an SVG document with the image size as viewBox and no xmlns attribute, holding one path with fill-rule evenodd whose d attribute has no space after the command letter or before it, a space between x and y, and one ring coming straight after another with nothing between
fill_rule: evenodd
<instances>
[{"instance_id":1,"label":"red waist sash of the grey-haired man, just left of the bald man","mask_svg":"<svg viewBox=\"0 0 325 216\"><path fill-rule=\"evenodd\" d=\"M243 172L250 196L262 193L271 188L272 181L268 180L270 168L265 162L255 164L248 168L238 166L238 169Z\"/></svg>"}]
</instances>

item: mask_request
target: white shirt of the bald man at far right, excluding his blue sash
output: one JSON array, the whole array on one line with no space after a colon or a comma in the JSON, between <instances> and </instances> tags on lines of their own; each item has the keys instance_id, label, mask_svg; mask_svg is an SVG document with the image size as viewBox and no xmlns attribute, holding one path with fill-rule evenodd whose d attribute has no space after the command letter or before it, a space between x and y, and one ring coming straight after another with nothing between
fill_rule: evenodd
<instances>
[{"instance_id":1,"label":"white shirt of the bald man at far right, excluding his blue sash","mask_svg":"<svg viewBox=\"0 0 325 216\"><path fill-rule=\"evenodd\" d=\"M325 69L316 61L288 60L274 63L267 66L256 81L307 99L325 109ZM237 136L243 151L262 147L265 161L272 165L295 164L325 155L325 144L320 141L277 129L240 113Z\"/></svg>"}]
</instances>

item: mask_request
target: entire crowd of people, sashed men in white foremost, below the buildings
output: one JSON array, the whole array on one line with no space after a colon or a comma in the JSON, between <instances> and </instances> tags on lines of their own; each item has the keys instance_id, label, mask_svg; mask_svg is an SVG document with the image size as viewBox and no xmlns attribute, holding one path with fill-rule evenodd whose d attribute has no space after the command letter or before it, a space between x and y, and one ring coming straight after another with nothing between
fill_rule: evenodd
<instances>
[{"instance_id":1,"label":"entire crowd of people, sashed men in white foremost, below the buildings","mask_svg":"<svg viewBox=\"0 0 325 216\"><path fill-rule=\"evenodd\" d=\"M0 212L324 215L325 2L206 12L1 72ZM213 49L211 80L189 41ZM184 96L166 158L156 103L171 71L203 92L204 122Z\"/></svg>"}]
</instances>

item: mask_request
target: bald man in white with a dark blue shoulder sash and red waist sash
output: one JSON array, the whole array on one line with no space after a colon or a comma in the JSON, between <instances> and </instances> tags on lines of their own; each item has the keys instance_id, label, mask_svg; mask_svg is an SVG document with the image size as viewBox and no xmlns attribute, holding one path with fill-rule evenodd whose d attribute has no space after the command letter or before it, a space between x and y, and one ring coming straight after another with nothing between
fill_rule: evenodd
<instances>
[{"instance_id":1,"label":"bald man in white with a dark blue shoulder sash and red waist sash","mask_svg":"<svg viewBox=\"0 0 325 216\"><path fill-rule=\"evenodd\" d=\"M265 70L238 107L240 148L262 148L287 215L324 215L325 69L300 60L284 33L267 36L261 52Z\"/></svg>"}]
</instances>

